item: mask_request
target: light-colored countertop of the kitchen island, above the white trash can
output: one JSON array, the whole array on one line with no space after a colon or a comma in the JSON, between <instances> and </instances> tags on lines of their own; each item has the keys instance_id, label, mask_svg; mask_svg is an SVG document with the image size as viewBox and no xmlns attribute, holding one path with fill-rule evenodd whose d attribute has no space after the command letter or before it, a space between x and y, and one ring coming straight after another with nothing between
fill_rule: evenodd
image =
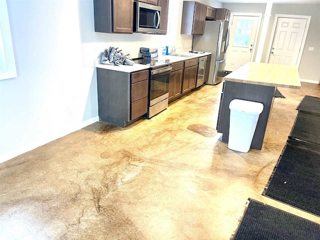
<instances>
[{"instance_id":1,"label":"light-colored countertop of the kitchen island, above the white trash can","mask_svg":"<svg viewBox=\"0 0 320 240\"><path fill-rule=\"evenodd\" d=\"M248 62L232 71L225 81L236 81L258 85L301 88L298 68L296 66Z\"/></svg>"}]
</instances>

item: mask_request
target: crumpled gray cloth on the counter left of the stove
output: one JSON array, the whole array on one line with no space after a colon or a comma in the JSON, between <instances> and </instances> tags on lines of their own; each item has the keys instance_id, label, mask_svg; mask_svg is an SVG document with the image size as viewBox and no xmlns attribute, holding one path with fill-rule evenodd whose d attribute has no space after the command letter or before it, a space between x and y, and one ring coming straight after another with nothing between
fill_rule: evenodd
<instances>
[{"instance_id":1,"label":"crumpled gray cloth on the counter left of the stove","mask_svg":"<svg viewBox=\"0 0 320 240\"><path fill-rule=\"evenodd\" d=\"M134 61L130 58L129 53L122 52L118 47L110 46L105 48L101 55L101 63L105 65L133 65Z\"/></svg>"}]
</instances>

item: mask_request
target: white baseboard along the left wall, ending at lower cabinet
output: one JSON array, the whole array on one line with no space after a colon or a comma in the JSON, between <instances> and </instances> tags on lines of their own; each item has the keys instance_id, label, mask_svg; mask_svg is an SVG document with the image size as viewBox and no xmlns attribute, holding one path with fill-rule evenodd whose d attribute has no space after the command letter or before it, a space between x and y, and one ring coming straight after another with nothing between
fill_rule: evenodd
<instances>
[{"instance_id":1,"label":"white baseboard along the left wall, ending at lower cabinet","mask_svg":"<svg viewBox=\"0 0 320 240\"><path fill-rule=\"evenodd\" d=\"M50 141L53 141L53 140L56 140L62 136L65 136L73 131L76 131L78 129L81 129L87 125L90 125L96 121L99 120L99 117L96 116L96 117L92 117L86 121L83 121L81 122L80 124L78 125L75 125L75 126L72 126L72 128L68 129L67 131L64 131L64 132L58 132L56 134L52 134L50 136L46 136L45 138L42 138L38 141L34 141L34 142L31 142L31 143L28 143L28 144L25 144L23 146L20 146L18 148L15 148L14 150L11 150L11 151L8 151L8 152L5 152L5 153L2 153L0 155L0 163L4 162L4 161L7 161L13 157L16 157L18 155L21 155L27 151L30 151L34 148L37 148L39 146L42 146Z\"/></svg>"}]
</instances>

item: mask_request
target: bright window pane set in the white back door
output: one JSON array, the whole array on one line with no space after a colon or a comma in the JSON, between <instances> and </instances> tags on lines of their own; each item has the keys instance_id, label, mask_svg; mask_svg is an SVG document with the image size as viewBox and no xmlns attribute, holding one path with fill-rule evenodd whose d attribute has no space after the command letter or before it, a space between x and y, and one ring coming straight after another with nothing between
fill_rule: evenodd
<instances>
[{"instance_id":1,"label":"bright window pane set in the white back door","mask_svg":"<svg viewBox=\"0 0 320 240\"><path fill-rule=\"evenodd\" d=\"M253 20L237 20L233 46L248 47Z\"/></svg>"}]
</instances>

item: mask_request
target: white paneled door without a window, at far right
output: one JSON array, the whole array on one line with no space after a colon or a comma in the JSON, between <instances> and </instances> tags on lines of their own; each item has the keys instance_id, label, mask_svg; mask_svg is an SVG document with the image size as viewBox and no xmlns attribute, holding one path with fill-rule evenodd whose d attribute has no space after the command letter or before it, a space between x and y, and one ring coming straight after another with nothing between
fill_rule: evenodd
<instances>
[{"instance_id":1,"label":"white paneled door without a window, at far right","mask_svg":"<svg viewBox=\"0 0 320 240\"><path fill-rule=\"evenodd\" d=\"M306 19L278 17L269 63L296 65Z\"/></svg>"}]
</instances>

